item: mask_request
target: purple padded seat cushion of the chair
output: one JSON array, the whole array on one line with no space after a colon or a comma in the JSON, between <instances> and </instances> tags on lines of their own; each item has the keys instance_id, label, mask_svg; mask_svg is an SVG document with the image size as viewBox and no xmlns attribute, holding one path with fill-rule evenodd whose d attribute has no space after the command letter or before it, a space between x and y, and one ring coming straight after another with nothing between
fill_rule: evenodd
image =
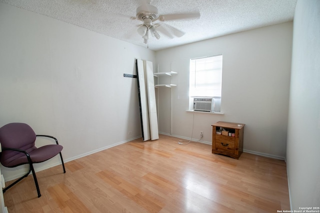
<instances>
[{"instance_id":1,"label":"purple padded seat cushion of the chair","mask_svg":"<svg viewBox=\"0 0 320 213\"><path fill-rule=\"evenodd\" d=\"M34 147L34 149L28 149L31 150L28 154L32 163L41 163L59 154L62 148L63 147L61 145L56 144L45 145L39 148ZM1 164L5 167L15 167L17 165L28 164L26 156L21 154L22 153L19 153L18 155L20 156L14 160L12 160L12 158L7 160L2 159Z\"/></svg>"}]
</instances>

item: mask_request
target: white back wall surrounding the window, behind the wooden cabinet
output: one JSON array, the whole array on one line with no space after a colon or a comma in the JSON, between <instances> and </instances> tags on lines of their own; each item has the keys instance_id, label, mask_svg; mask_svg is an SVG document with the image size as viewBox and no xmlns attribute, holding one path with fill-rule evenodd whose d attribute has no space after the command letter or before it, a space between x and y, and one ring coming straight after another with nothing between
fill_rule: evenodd
<instances>
[{"instance_id":1,"label":"white back wall surrounding the window, behind the wooden cabinet","mask_svg":"<svg viewBox=\"0 0 320 213\"><path fill-rule=\"evenodd\" d=\"M211 125L217 121L244 123L244 149L284 159L291 67L292 22L257 28L157 51L159 72L173 76L172 135L191 138L193 113L189 106L189 59L223 54L224 115L194 113L193 138L204 131L211 144ZM164 78L159 79L162 81ZM169 80L169 79L164 79ZM170 90L159 88L159 132L170 134Z\"/></svg>"}]
</instances>

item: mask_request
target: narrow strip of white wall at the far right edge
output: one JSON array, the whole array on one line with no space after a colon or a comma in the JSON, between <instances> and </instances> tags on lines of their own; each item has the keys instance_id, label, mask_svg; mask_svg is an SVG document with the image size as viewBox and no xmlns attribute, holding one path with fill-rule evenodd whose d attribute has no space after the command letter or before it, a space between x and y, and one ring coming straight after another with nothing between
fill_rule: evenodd
<instances>
[{"instance_id":1,"label":"narrow strip of white wall at the far right edge","mask_svg":"<svg viewBox=\"0 0 320 213\"><path fill-rule=\"evenodd\" d=\"M286 149L292 211L320 206L320 1L298 0L293 23Z\"/></svg>"}]
</instances>

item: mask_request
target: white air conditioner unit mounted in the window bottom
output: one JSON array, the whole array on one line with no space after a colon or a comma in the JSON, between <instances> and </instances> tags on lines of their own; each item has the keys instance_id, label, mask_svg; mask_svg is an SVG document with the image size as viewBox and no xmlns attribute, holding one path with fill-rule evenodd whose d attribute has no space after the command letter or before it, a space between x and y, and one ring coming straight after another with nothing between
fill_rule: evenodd
<instances>
[{"instance_id":1,"label":"white air conditioner unit mounted in the window bottom","mask_svg":"<svg viewBox=\"0 0 320 213\"><path fill-rule=\"evenodd\" d=\"M221 97L193 98L193 110L204 112L220 112Z\"/></svg>"}]
</instances>

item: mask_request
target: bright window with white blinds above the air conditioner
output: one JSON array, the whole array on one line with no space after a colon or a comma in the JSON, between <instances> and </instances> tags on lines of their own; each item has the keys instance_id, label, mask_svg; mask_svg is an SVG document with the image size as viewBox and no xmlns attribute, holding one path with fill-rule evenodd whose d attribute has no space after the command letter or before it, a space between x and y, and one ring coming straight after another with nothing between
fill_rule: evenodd
<instances>
[{"instance_id":1,"label":"bright window with white blinds above the air conditioner","mask_svg":"<svg viewBox=\"0 0 320 213\"><path fill-rule=\"evenodd\" d=\"M214 109L220 111L222 55L190 59L189 97L210 97Z\"/></svg>"}]
</instances>

